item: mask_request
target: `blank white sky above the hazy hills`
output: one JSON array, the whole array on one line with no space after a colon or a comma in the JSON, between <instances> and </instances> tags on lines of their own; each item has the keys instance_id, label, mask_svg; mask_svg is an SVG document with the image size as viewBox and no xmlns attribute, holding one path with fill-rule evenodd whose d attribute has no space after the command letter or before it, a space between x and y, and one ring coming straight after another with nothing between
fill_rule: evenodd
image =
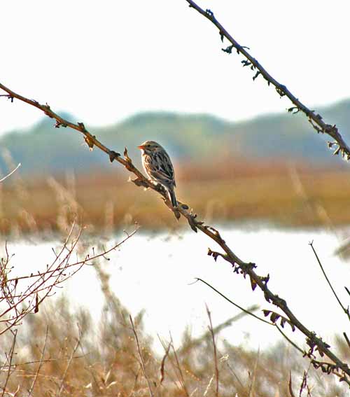
<instances>
[{"instance_id":1,"label":"blank white sky above the hazy hills","mask_svg":"<svg viewBox=\"0 0 350 397\"><path fill-rule=\"evenodd\" d=\"M198 1L280 83L315 107L350 97L350 2ZM241 120L284 111L185 0L1 1L0 81L86 125L139 111ZM0 99L0 133L43 117Z\"/></svg>"}]
</instances>

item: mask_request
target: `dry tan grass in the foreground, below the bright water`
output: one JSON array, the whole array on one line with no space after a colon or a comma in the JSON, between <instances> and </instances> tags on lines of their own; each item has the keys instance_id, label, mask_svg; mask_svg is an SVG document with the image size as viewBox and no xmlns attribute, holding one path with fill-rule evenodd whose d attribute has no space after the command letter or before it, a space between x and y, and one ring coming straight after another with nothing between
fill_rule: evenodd
<instances>
[{"instance_id":1,"label":"dry tan grass in the foreground, below the bright water","mask_svg":"<svg viewBox=\"0 0 350 397\"><path fill-rule=\"evenodd\" d=\"M105 297L101 319L84 311L72 314L64 299L46 304L20 328L10 372L4 353L13 338L1 337L0 385L8 377L6 396L290 396L290 372L299 396L305 371L302 396L308 388L311 396L349 393L335 377L310 369L293 347L246 351L218 342L213 328L198 340L185 333L180 347L162 341L165 351L157 354L142 314L133 319L133 328L108 276L101 267L96 270ZM342 351L349 355L344 344Z\"/></svg>"}]
</instances>

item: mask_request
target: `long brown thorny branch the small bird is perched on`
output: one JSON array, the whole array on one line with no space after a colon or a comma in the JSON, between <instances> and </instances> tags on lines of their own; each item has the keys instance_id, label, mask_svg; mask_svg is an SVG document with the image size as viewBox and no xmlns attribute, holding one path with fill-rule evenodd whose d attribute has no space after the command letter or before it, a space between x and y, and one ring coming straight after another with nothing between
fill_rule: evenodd
<instances>
[{"instance_id":1,"label":"long brown thorny branch the small bird is perched on","mask_svg":"<svg viewBox=\"0 0 350 397\"><path fill-rule=\"evenodd\" d=\"M190 1L190 0L186 0L186 1L188 1L190 4L193 4L193 7L195 7L196 9L199 8L198 6L195 5L195 3L193 3L193 1ZM225 35L229 36L228 33L225 32L223 27L221 27L221 25L218 24L218 22L216 21L216 19L214 18L214 15L212 13L209 13L208 11L207 12L202 11L200 8L198 11L200 11L201 13L204 13L203 15L207 16L207 18L209 18L209 20L211 20L212 22L215 23L215 25L220 27L221 32L223 33L224 36ZM230 39L232 39L232 38L230 38ZM232 39L232 41L233 41L233 39ZM236 45L238 46L237 43L236 43ZM244 48L242 48L241 46L239 46L238 48L241 53L243 53L244 55L246 54L247 56L250 57L250 55L248 55L248 53L246 53ZM255 64L258 65L258 62L256 62L255 60L254 60L254 62L255 62ZM259 65L259 67L260 67L260 65ZM264 71L264 73L266 76L268 76L270 78L270 76L265 71ZM272 78L270 78L270 79L272 79ZM152 181L150 181L149 179L146 179L146 177L139 171L139 169L137 169L137 167L135 167L133 165L131 158L127 154L127 148L125 148L124 158L123 158L122 155L120 155L120 153L116 153L115 151L112 151L111 149L107 148L94 135L92 135L90 132L88 132L83 123L77 123L77 124L71 123L68 120L65 120L64 118L62 118L61 116L58 116L57 113L55 113L54 111L52 111L50 109L50 106L48 106L48 104L42 105L33 99L27 99L26 97L22 97L22 95L16 94L9 88L6 88L1 83L0 83L0 89L2 89L8 93L8 95L7 95L8 98L20 99L21 101L26 102L27 104L30 104L31 106L35 106L36 108L40 109L50 118L54 118L56 120L55 127L71 127L71 128L73 128L73 130L77 130L78 132L82 133L85 136L85 142L86 142L87 146L89 146L90 148L97 146L102 151L104 151L104 153L109 155L109 159L111 162L113 162L113 160L118 161L128 171L132 172L132 174L137 176L136 179L132 180L132 182L135 183L135 185L142 186L144 188L149 188L151 190L155 190L156 192L160 193L160 195L162 195L162 198L165 201L165 204L167 205L167 207L169 207L169 209L174 211L176 218L180 218L180 216L182 215L184 218L186 218L186 220L188 221L188 224L190 225L190 228L194 232L197 232L197 230L200 230L205 235L207 235L210 239L212 239L214 242L216 242L216 244L218 244L218 246L220 246L221 249L223 250L223 253L221 253L221 252L211 251L211 249L209 249L209 251L208 251L209 256L213 256L214 260L217 260L218 256L221 256L223 259L225 259L228 263L230 263L232 265L232 270L234 273L241 274L244 278L248 277L248 279L251 283L251 288L253 291L258 286L258 288L260 288L260 290L264 294L265 300L267 300L267 302L272 303L276 307L279 307L279 309L281 309L281 311L284 314L286 314L286 317L285 317L285 316L281 316L280 314L276 314L275 312L266 310L265 316L269 316L269 319L273 323L277 323L277 321L279 321L282 328L286 323L288 323L291 326L293 331L295 330L295 328L297 328L298 330L300 330L301 333L303 333L306 336L306 342L307 342L307 345L309 346L309 351L307 351L306 356L307 356L307 358L309 358L312 365L314 365L315 368L321 368L321 370L325 373L328 373L328 374L332 373L334 375L337 375L339 377L339 380L346 382L350 386L350 368L349 368L349 366L346 363L343 363L335 354L332 353L332 351L330 350L330 346L328 344L326 344L325 342L323 342L321 337L318 337L316 335L316 333L309 330L307 327L304 326L304 324L302 324L297 319L297 317L289 309L286 300L283 300L282 298L279 297L279 295L276 295L276 294L272 293L272 291L269 290L269 288L267 286L267 284L269 282L269 275L267 275L266 277L259 276L254 271L254 269L256 268L255 263L247 263L247 262L244 262L244 260L241 260L230 249L228 244L226 244L225 240L221 237L220 232L218 232L218 230L216 230L215 228L212 228L209 225L205 225L203 221L197 220L197 214L195 214L193 212L193 209L188 211L188 206L186 204L179 203L179 207L174 209L172 207L171 202L169 201L169 198L168 198L165 188L163 188L160 184L155 184ZM283 90L286 90L286 88L283 88ZM283 90L281 92L284 92ZM307 116L311 117L312 120L314 120L313 113L311 113L310 111L308 111ZM321 123L319 125L322 125L323 122L321 121L321 118L319 118L319 119L316 118L316 120L318 120L318 123ZM324 132L326 132L326 131L324 131ZM332 130L332 134L333 134L333 132L334 132L334 130ZM327 133L329 134L330 132L327 132ZM335 135L335 136L337 137L337 135ZM343 145L342 140L339 140L339 145L342 148L344 148L345 153L350 154L349 149L347 148L347 146L345 144ZM315 359L316 352L318 352L318 354L321 357L327 356L328 358L330 358L332 363L325 363L325 362L317 361Z\"/></svg>"}]
</instances>

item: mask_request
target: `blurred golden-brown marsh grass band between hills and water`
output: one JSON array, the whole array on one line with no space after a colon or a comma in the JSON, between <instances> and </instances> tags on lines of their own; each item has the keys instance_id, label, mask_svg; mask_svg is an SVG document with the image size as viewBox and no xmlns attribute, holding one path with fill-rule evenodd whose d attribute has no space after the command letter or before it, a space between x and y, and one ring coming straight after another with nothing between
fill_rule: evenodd
<instances>
[{"instance_id":1,"label":"blurred golden-brown marsh grass band between hills and water","mask_svg":"<svg viewBox=\"0 0 350 397\"><path fill-rule=\"evenodd\" d=\"M234 170L234 173L232 173ZM118 173L121 172L121 173ZM286 165L224 162L216 168L186 165L178 172L178 197L207 221L259 219L282 225L350 223L347 172L295 169ZM4 234L65 230L76 214L90 230L178 227L155 197L127 183L123 170L48 179L21 179L0 187L0 231Z\"/></svg>"}]
</instances>

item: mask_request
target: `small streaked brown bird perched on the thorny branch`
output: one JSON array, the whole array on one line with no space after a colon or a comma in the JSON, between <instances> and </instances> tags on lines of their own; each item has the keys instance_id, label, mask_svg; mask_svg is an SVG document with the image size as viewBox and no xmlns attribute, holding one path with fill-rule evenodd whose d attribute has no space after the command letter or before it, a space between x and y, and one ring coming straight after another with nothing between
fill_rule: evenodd
<instances>
[{"instance_id":1,"label":"small streaked brown bird perched on the thorny branch","mask_svg":"<svg viewBox=\"0 0 350 397\"><path fill-rule=\"evenodd\" d=\"M177 207L174 167L167 151L155 141L145 141L137 147L141 149L142 165L146 174L167 189L172 207Z\"/></svg>"}]
</instances>

